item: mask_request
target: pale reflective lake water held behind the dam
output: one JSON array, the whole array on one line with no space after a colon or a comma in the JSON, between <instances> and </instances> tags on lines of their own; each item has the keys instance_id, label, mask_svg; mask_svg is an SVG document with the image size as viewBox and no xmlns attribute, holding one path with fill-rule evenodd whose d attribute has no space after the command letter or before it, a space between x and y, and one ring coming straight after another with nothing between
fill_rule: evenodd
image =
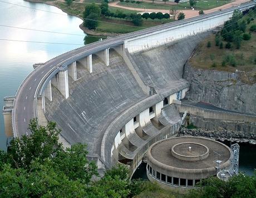
<instances>
[{"instance_id":1,"label":"pale reflective lake water held behind the dam","mask_svg":"<svg viewBox=\"0 0 256 198\"><path fill-rule=\"evenodd\" d=\"M34 63L46 62L61 53L81 47L85 41L90 43L99 40L99 37L87 37L85 39L86 34L79 28L82 20L62 12L61 9L22 0L3 1L8 3L0 2L1 108L4 96L15 95L23 79L33 70ZM12 41L4 41L3 39ZM31 42L18 42L17 40ZM0 149L6 150L2 113L0 113Z\"/></svg>"}]
</instances>

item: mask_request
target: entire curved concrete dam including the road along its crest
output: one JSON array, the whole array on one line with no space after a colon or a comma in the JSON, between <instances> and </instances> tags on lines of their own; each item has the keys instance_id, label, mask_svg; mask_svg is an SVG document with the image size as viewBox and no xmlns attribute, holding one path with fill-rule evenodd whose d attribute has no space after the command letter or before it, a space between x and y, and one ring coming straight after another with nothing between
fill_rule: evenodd
<instances>
[{"instance_id":1,"label":"entire curved concrete dam including the road along its crest","mask_svg":"<svg viewBox=\"0 0 256 198\"><path fill-rule=\"evenodd\" d=\"M174 106L189 90L183 66L198 42L243 4L104 41L35 65L3 108L7 136L29 135L55 121L63 145L87 143L99 169L140 165L156 141L175 135L184 116ZM24 108L26 106L26 109Z\"/></svg>"}]
</instances>

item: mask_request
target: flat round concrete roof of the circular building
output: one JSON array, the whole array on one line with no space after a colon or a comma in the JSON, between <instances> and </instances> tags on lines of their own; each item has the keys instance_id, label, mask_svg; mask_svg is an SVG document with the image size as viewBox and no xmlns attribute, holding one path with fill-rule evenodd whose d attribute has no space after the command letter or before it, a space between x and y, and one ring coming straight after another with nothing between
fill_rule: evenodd
<instances>
[{"instance_id":1,"label":"flat round concrete roof of the circular building","mask_svg":"<svg viewBox=\"0 0 256 198\"><path fill-rule=\"evenodd\" d=\"M205 178L202 172L208 172L209 176L216 171L215 167L228 167L231 153L228 146L218 141L183 136L154 143L147 151L147 161L156 170L166 170L166 174L183 172L187 176L201 174L200 177Z\"/></svg>"}]
</instances>

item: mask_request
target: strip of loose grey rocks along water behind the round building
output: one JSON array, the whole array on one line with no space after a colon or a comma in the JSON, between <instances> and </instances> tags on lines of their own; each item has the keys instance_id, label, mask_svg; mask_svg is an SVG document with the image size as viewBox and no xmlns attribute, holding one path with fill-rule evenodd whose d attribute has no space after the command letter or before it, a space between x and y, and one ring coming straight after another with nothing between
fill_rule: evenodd
<instances>
[{"instance_id":1,"label":"strip of loose grey rocks along water behind the round building","mask_svg":"<svg viewBox=\"0 0 256 198\"><path fill-rule=\"evenodd\" d=\"M193 128L189 129L186 127L180 127L178 132L179 136L202 136L208 137L213 140L218 140L221 142L230 141L232 142L242 142L250 143L256 145L256 133L249 133L243 131L231 131L231 130L206 130L203 128Z\"/></svg>"}]
</instances>

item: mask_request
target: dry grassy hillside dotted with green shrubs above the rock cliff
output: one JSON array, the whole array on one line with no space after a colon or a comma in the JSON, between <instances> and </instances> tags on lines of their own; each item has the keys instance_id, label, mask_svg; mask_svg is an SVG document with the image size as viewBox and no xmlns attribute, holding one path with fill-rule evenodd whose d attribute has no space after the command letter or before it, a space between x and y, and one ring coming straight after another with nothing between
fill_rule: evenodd
<instances>
[{"instance_id":1,"label":"dry grassy hillside dotted with green shrubs above the rock cliff","mask_svg":"<svg viewBox=\"0 0 256 198\"><path fill-rule=\"evenodd\" d=\"M239 21L246 23L244 33L250 35L250 39L245 40L244 33L241 34L242 41L239 49L234 42L230 42L230 48L226 48L228 42L221 36L219 45L216 46L218 33L212 34L199 44L194 56L190 59L190 64L202 69L252 72L254 76L256 74L256 32L250 31L249 28L256 25L256 10Z\"/></svg>"}]
</instances>

